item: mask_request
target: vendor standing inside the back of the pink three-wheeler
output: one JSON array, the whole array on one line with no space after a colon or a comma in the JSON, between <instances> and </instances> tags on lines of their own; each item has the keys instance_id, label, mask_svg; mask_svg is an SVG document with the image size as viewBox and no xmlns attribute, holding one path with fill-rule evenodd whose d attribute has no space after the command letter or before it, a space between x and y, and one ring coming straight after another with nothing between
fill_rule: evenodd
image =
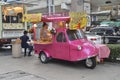
<instances>
[{"instance_id":1,"label":"vendor standing inside the back of the pink three-wheeler","mask_svg":"<svg viewBox=\"0 0 120 80\"><path fill-rule=\"evenodd\" d=\"M44 22L42 25L42 29L40 30L40 39L42 41L51 41L51 38L52 34L48 30L48 24Z\"/></svg>"}]
</instances>

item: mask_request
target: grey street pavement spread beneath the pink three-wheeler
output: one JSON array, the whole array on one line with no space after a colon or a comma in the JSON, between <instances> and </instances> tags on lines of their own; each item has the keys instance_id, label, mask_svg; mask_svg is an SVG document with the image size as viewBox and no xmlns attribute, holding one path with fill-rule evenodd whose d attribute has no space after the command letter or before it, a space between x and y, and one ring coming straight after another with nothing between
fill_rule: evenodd
<instances>
[{"instance_id":1,"label":"grey street pavement spread beneath the pink three-wheeler","mask_svg":"<svg viewBox=\"0 0 120 80\"><path fill-rule=\"evenodd\" d=\"M0 56L0 80L120 80L120 63L104 62L87 69L81 63L52 60L42 64L34 55L13 58L11 51L8 54Z\"/></svg>"}]
</instances>

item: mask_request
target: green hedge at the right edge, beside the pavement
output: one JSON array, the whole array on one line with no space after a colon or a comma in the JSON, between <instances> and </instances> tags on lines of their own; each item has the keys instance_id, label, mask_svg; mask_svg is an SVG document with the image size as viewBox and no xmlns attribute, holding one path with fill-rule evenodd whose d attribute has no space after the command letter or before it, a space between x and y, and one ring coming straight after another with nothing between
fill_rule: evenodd
<instances>
[{"instance_id":1,"label":"green hedge at the right edge, beside the pavement","mask_svg":"<svg viewBox=\"0 0 120 80\"><path fill-rule=\"evenodd\" d=\"M110 48L109 61L116 62L120 60L120 44L108 44Z\"/></svg>"}]
</instances>

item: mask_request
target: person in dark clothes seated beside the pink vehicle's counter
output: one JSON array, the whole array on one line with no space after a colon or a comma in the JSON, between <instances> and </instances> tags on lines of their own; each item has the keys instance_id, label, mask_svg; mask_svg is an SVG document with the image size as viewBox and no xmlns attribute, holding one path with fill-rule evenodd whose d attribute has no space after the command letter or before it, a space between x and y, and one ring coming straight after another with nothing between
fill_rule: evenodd
<instances>
[{"instance_id":1,"label":"person in dark clothes seated beside the pink vehicle's counter","mask_svg":"<svg viewBox=\"0 0 120 80\"><path fill-rule=\"evenodd\" d=\"M27 36L27 31L24 31L24 35L20 37L21 39L21 47L24 48L24 56L26 56L26 50L29 49L28 56L31 56L31 52L33 50L33 46L29 45L27 42L30 41Z\"/></svg>"}]
</instances>

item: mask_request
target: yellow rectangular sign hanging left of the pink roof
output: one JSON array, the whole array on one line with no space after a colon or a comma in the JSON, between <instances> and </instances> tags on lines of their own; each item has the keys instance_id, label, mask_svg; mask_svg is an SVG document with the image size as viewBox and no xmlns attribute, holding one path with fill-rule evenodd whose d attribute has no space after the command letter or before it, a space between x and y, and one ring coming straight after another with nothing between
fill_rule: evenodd
<instances>
[{"instance_id":1,"label":"yellow rectangular sign hanging left of the pink roof","mask_svg":"<svg viewBox=\"0 0 120 80\"><path fill-rule=\"evenodd\" d=\"M22 21L23 22L40 22L42 14L24 14Z\"/></svg>"}]
</instances>

